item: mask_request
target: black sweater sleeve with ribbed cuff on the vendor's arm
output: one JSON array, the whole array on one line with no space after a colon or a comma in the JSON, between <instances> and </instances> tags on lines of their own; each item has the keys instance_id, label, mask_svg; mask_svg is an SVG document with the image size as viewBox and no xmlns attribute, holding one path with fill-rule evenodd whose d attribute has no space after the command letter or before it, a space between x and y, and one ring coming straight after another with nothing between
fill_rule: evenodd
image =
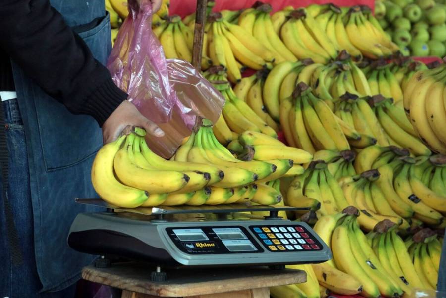
<instances>
[{"instance_id":1,"label":"black sweater sleeve with ribbed cuff on the vendor's arm","mask_svg":"<svg viewBox=\"0 0 446 298\"><path fill-rule=\"evenodd\" d=\"M127 99L49 0L1 0L0 47L70 112L100 126Z\"/></svg>"}]
</instances>

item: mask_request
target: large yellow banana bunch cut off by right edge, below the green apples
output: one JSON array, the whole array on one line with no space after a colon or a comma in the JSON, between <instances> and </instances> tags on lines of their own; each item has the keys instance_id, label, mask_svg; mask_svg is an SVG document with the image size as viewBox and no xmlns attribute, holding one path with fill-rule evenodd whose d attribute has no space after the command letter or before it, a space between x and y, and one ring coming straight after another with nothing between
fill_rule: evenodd
<instances>
[{"instance_id":1,"label":"large yellow banana bunch cut off by right edge, below the green apples","mask_svg":"<svg viewBox=\"0 0 446 298\"><path fill-rule=\"evenodd\" d=\"M446 65L415 73L404 89L404 110L417 135L435 152L446 154Z\"/></svg>"}]
</instances>

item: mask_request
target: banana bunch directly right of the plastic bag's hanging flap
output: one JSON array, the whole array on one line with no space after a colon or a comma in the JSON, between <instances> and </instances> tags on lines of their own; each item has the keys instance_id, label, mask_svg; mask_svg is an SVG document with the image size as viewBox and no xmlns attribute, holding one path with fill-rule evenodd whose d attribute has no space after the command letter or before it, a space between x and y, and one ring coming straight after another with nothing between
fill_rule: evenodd
<instances>
[{"instance_id":1,"label":"banana bunch directly right of the plastic bag's hanging flap","mask_svg":"<svg viewBox=\"0 0 446 298\"><path fill-rule=\"evenodd\" d=\"M227 80L227 74L221 66L213 66L204 72L204 76L226 99L222 114L214 125L214 133L220 143L227 145L234 139L233 132L238 135L247 130L262 132L277 138L276 130L270 127L244 100L235 94Z\"/></svg>"}]
</instances>

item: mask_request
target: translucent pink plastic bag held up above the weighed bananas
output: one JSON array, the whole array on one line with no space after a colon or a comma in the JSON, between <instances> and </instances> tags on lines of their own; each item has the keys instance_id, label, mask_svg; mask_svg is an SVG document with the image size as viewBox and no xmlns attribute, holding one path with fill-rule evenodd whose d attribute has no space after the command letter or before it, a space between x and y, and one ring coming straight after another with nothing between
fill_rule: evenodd
<instances>
[{"instance_id":1,"label":"translucent pink plastic bag held up above the weighed bananas","mask_svg":"<svg viewBox=\"0 0 446 298\"><path fill-rule=\"evenodd\" d=\"M189 62L166 60L152 32L150 0L141 0L139 7L129 0L128 10L107 68L128 100L165 131L161 138L147 134L146 141L154 152L170 158L190 135L197 116L217 121L224 98Z\"/></svg>"}]
</instances>

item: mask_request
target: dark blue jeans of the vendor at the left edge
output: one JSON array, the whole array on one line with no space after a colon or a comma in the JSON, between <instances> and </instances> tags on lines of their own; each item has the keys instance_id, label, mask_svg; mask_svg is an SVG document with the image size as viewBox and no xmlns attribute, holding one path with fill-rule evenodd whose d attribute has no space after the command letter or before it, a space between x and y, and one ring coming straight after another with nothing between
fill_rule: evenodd
<instances>
[{"instance_id":1,"label":"dark blue jeans of the vendor at the left edge","mask_svg":"<svg viewBox=\"0 0 446 298\"><path fill-rule=\"evenodd\" d=\"M23 264L13 266L5 237L6 221L2 199L0 207L0 298L74 298L76 284L53 293L39 293L42 288L34 253L33 211L25 133L17 100L4 102L6 137L9 151L9 186L7 196L17 228ZM0 177L1 179L1 177ZM2 193L0 192L0 198ZM57 223L55 223L57 224ZM48 260L51 262L52 260Z\"/></svg>"}]
</instances>

